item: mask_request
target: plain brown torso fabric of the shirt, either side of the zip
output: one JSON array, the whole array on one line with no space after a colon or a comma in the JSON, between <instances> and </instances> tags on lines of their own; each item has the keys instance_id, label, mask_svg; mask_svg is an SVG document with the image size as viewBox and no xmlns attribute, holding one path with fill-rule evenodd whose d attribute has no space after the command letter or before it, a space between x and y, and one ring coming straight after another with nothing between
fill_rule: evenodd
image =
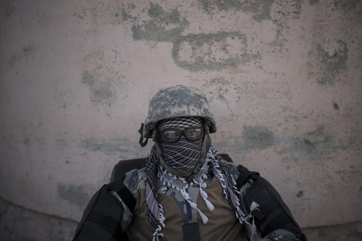
<instances>
[{"instance_id":1,"label":"plain brown torso fabric of the shirt, either side of the zip","mask_svg":"<svg viewBox=\"0 0 362 241\"><path fill-rule=\"evenodd\" d=\"M204 189L209 196L207 199L214 205L215 209L210 211L201 195L198 195L197 203L201 211L209 218L207 224L203 224L198 215L197 223L201 240L242 240L240 230L242 224L236 219L235 213L228 201L224 198L219 182L214 182L208 189ZM152 229L146 209L146 190L137 190L137 204L133 220L127 232L130 240L150 241L152 240ZM166 220L165 228L161 230L164 234L162 240L184 240L182 231L182 216L180 208L173 197L159 193L160 204L163 206ZM245 240L245 239L244 239Z\"/></svg>"}]
</instances>

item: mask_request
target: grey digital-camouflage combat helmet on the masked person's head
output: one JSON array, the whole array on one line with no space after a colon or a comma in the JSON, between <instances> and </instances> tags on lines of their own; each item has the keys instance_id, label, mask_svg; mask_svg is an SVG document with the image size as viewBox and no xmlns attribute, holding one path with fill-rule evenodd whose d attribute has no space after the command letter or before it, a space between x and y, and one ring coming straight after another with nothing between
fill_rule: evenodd
<instances>
[{"instance_id":1,"label":"grey digital-camouflage combat helmet on the masked person's head","mask_svg":"<svg viewBox=\"0 0 362 241\"><path fill-rule=\"evenodd\" d=\"M185 85L160 89L151 99L148 116L144 121L143 137L150 138L157 122L181 116L203 117L209 124L209 132L216 132L216 123L201 90Z\"/></svg>"}]
</instances>

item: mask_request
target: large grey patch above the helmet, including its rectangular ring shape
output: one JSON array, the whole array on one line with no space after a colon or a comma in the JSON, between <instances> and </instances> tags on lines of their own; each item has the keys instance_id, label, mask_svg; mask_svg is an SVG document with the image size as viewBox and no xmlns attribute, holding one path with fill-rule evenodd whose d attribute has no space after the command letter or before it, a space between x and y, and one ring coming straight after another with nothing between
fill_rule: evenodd
<instances>
[{"instance_id":1,"label":"large grey patch above the helmet, including its rectangular ring shape","mask_svg":"<svg viewBox=\"0 0 362 241\"><path fill-rule=\"evenodd\" d=\"M134 40L173 42L174 63L183 69L199 71L237 68L239 64L262 59L259 52L253 54L247 50L245 34L220 31L216 34L182 36L189 22L181 17L177 9L166 13L159 5L151 3L148 15L153 20L132 26Z\"/></svg>"}]
</instances>

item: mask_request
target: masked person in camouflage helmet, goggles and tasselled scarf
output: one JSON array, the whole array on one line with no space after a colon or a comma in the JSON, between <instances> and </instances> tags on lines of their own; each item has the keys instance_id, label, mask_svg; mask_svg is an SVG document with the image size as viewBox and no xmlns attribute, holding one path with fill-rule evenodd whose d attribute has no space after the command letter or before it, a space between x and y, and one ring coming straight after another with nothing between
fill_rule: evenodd
<instances>
[{"instance_id":1,"label":"masked person in camouflage helmet, goggles and tasselled scarf","mask_svg":"<svg viewBox=\"0 0 362 241\"><path fill-rule=\"evenodd\" d=\"M249 223L263 241L306 240L268 181L218 155L215 132L199 89L159 90L140 129L142 147L154 141L146 167L98 190L73 240L244 241Z\"/></svg>"}]
</instances>

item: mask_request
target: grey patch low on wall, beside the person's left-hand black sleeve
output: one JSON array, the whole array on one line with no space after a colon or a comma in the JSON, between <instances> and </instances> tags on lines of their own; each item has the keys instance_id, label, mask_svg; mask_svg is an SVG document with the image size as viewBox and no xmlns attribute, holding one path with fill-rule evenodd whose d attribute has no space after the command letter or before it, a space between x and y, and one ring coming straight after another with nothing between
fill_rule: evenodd
<instances>
[{"instance_id":1,"label":"grey patch low on wall, beside the person's left-hand black sleeve","mask_svg":"<svg viewBox=\"0 0 362 241\"><path fill-rule=\"evenodd\" d=\"M60 198L78 206L80 209L83 209L91 197L85 191L86 189L88 188L84 185L59 183L56 190Z\"/></svg>"}]
</instances>

